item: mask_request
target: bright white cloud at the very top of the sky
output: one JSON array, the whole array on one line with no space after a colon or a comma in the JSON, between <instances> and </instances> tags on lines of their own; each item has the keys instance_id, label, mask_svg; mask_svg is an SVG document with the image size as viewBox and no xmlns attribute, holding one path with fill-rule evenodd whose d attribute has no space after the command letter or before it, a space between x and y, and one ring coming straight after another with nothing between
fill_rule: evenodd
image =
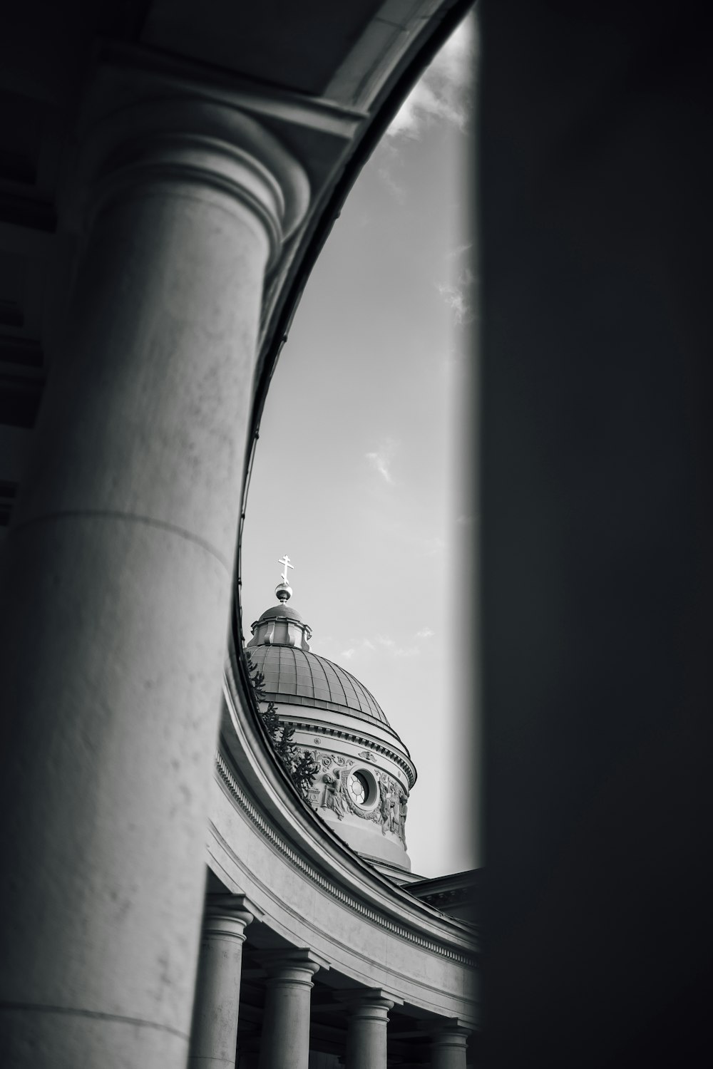
<instances>
[{"instance_id":1,"label":"bright white cloud at the very top of the sky","mask_svg":"<svg viewBox=\"0 0 713 1069\"><path fill-rule=\"evenodd\" d=\"M476 22L469 16L454 30L402 104L386 134L416 139L435 121L465 130L472 114Z\"/></svg>"}]
</instances>

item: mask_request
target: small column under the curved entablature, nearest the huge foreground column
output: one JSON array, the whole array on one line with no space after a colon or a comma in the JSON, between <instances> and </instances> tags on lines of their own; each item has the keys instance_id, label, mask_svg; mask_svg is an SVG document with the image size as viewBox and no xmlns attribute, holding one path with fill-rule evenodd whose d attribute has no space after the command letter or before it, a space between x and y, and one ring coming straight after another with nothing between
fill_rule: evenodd
<instances>
[{"instance_id":1,"label":"small column under the curved entablature, nearest the huge foreground column","mask_svg":"<svg viewBox=\"0 0 713 1069\"><path fill-rule=\"evenodd\" d=\"M249 905L249 909L248 909ZM234 1069L245 928L261 911L244 895L211 895L198 959L188 1069Z\"/></svg>"}]
</instances>

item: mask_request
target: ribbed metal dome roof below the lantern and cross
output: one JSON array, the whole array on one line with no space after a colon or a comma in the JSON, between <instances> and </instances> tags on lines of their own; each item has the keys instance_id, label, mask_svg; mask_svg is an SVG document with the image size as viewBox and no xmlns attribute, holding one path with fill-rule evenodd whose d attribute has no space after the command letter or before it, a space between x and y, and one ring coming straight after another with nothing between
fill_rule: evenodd
<instances>
[{"instance_id":1,"label":"ribbed metal dome roof below the lantern and cross","mask_svg":"<svg viewBox=\"0 0 713 1069\"><path fill-rule=\"evenodd\" d=\"M374 721L396 735L366 686L326 657L291 646L250 646L248 652L254 667L265 677L263 691L268 698Z\"/></svg>"}]
</instances>

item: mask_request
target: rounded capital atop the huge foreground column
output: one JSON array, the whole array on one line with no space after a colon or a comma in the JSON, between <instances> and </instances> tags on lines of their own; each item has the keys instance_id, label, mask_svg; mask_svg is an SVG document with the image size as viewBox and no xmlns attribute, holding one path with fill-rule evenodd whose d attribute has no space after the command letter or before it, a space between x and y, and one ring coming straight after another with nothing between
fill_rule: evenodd
<instances>
[{"instance_id":1,"label":"rounded capital atop the huge foreground column","mask_svg":"<svg viewBox=\"0 0 713 1069\"><path fill-rule=\"evenodd\" d=\"M307 213L309 180L292 153L253 117L188 80L155 73L137 91L121 67L102 69L81 126L82 195L67 205L75 224L127 187L202 187L260 220L269 266Z\"/></svg>"}]
</instances>

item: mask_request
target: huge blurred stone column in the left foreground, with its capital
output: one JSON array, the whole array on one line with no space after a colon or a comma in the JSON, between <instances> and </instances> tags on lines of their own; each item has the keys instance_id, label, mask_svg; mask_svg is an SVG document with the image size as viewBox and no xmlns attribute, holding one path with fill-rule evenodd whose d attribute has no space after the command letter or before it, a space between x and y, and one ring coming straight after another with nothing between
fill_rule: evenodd
<instances>
[{"instance_id":1,"label":"huge blurred stone column in the left foreground, with its capital","mask_svg":"<svg viewBox=\"0 0 713 1069\"><path fill-rule=\"evenodd\" d=\"M186 1064L263 279L307 204L235 109L124 90L0 573L13 1069Z\"/></svg>"}]
</instances>

